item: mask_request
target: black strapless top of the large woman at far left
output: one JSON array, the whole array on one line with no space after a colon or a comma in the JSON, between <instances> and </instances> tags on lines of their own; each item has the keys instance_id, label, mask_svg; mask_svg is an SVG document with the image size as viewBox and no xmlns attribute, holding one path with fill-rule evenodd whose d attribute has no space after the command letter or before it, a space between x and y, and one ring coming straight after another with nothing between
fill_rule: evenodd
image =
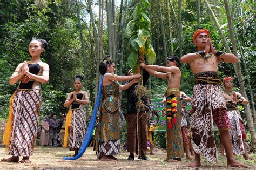
<instances>
[{"instance_id":1,"label":"black strapless top of the large woman at far left","mask_svg":"<svg viewBox=\"0 0 256 170\"><path fill-rule=\"evenodd\" d=\"M28 64L29 72L32 74L38 74L41 70L41 66L38 63ZM18 90L32 90L35 80L30 80L28 83L19 83Z\"/></svg>"}]
</instances>

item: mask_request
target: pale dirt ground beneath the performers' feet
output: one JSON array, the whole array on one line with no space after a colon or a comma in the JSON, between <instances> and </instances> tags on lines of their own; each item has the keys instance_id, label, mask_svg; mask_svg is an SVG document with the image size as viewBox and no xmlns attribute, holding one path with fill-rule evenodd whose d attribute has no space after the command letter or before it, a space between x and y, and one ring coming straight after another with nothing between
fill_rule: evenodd
<instances>
[{"instance_id":1,"label":"pale dirt ground beneath the performers' feet","mask_svg":"<svg viewBox=\"0 0 256 170\"><path fill-rule=\"evenodd\" d=\"M92 147L87 148L84 155L75 161L62 159L66 156L71 157L72 154L73 152L70 152L68 148L36 147L30 164L1 162L0 169L238 169L227 167L225 157L219 157L217 164L208 163L203 159L200 168L186 167L192 160L185 158L181 162L165 162L164 149L156 149L155 155L149 155L150 161L138 160L137 157L134 161L129 161L127 160L129 153L124 150L117 155L118 161L99 161ZM254 158L253 161L245 161L241 156L236 158L252 166L252 169L256 169L256 154L251 154L251 156ZM2 158L9 158L5 148L0 148L0 159Z\"/></svg>"}]
</instances>

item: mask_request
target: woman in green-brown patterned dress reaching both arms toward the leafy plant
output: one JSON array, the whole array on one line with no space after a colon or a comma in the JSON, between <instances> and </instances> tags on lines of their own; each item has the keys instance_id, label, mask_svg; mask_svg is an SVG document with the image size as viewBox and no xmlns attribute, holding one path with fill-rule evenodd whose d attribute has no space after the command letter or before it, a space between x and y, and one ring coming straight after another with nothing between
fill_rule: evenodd
<instances>
[{"instance_id":1,"label":"woman in green-brown patterned dress reaching both arms toward the leafy plant","mask_svg":"<svg viewBox=\"0 0 256 170\"><path fill-rule=\"evenodd\" d=\"M104 75L102 82L102 101L99 106L99 123L96 127L95 150L99 160L117 160L113 155L119 153L120 148L120 126L119 126L119 105L120 90L128 89L132 84L137 83L140 74L132 76L118 76L115 64L109 55L100 62L99 71ZM130 81L120 85L118 81Z\"/></svg>"}]
</instances>

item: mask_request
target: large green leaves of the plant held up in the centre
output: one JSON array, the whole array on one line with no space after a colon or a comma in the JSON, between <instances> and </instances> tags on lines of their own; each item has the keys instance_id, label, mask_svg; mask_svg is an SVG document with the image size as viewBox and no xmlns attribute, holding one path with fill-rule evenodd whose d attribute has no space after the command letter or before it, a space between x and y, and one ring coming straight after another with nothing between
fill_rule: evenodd
<instances>
[{"instance_id":1,"label":"large green leaves of the plant held up in the centre","mask_svg":"<svg viewBox=\"0 0 256 170\"><path fill-rule=\"evenodd\" d=\"M156 53L150 42L151 22L149 10L151 4L147 0L139 0L134 5L131 20L125 29L125 36L129 38L129 47L131 53L128 57L128 64L133 74L139 65L138 57L143 56L149 64L153 64L156 60Z\"/></svg>"}]
</instances>

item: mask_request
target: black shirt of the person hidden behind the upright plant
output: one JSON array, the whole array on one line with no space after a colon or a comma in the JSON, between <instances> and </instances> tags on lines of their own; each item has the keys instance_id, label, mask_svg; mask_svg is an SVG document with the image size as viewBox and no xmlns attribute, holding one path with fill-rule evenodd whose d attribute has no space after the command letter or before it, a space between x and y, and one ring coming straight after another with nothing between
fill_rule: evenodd
<instances>
[{"instance_id":1,"label":"black shirt of the person hidden behind the upright plant","mask_svg":"<svg viewBox=\"0 0 256 170\"><path fill-rule=\"evenodd\" d=\"M143 77L143 86L145 86L147 84L147 80L149 80L149 77L150 77L149 72L147 72L145 69L143 69L142 77ZM127 83L129 83L129 82L127 82ZM136 108L136 103L138 102L138 97L134 93L137 86L138 86L138 83L134 83L129 89L126 90L126 94L127 94L127 105L126 105L127 114L138 112L138 109ZM147 98L146 97L141 97L141 100L143 101L144 104L147 104Z\"/></svg>"}]
</instances>

